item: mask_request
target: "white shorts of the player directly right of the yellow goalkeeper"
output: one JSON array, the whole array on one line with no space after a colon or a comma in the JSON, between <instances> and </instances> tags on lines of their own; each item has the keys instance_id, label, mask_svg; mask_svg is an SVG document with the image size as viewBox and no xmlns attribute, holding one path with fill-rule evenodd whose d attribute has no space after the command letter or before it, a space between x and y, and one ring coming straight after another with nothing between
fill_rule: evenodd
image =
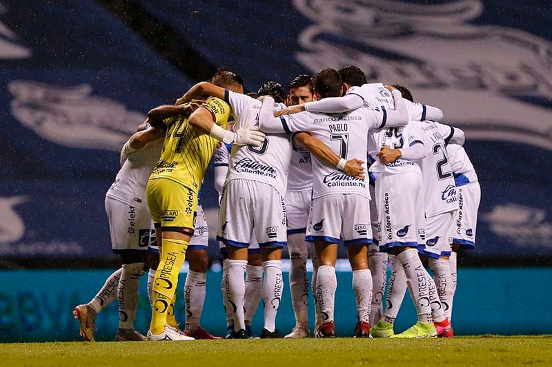
<instances>
[{"instance_id":1,"label":"white shorts of the player directly right of the yellow goalkeeper","mask_svg":"<svg viewBox=\"0 0 552 367\"><path fill-rule=\"evenodd\" d=\"M217 240L249 247L251 236L259 247L284 247L286 202L272 186L253 180L230 180L222 191Z\"/></svg>"}]
</instances>

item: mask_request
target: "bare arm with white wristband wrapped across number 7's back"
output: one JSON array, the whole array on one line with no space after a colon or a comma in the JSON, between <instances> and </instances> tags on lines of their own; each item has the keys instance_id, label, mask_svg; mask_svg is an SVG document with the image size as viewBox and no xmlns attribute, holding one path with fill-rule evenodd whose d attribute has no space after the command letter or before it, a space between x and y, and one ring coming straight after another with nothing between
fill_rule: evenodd
<instances>
[{"instance_id":1,"label":"bare arm with white wristband wrapped across number 7's back","mask_svg":"<svg viewBox=\"0 0 552 367\"><path fill-rule=\"evenodd\" d=\"M356 178L364 178L364 163L359 159L345 160L335 154L326 144L317 138L313 138L311 134L306 132L298 132L293 135L293 142L297 147L307 149L319 161L325 165L333 167L339 171L343 171L348 176Z\"/></svg>"}]
</instances>

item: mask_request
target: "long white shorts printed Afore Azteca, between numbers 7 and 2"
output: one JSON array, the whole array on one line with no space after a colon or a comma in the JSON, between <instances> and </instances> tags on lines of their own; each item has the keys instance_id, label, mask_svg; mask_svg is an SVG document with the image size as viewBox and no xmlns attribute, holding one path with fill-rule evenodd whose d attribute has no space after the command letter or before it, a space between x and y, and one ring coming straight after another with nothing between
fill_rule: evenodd
<instances>
[{"instance_id":1,"label":"long white shorts printed Afore Azteca, between numbers 7 and 2","mask_svg":"<svg viewBox=\"0 0 552 367\"><path fill-rule=\"evenodd\" d=\"M422 175L384 172L375 185L380 251L393 247L423 248L426 222Z\"/></svg>"}]
</instances>

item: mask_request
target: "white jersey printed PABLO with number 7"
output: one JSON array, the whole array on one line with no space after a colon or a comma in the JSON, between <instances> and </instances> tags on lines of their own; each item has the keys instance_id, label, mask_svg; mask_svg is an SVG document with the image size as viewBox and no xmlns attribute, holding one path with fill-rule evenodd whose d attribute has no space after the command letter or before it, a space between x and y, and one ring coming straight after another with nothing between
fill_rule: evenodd
<instances>
[{"instance_id":1,"label":"white jersey printed PABLO with number 7","mask_svg":"<svg viewBox=\"0 0 552 367\"><path fill-rule=\"evenodd\" d=\"M368 129L384 125L382 109L361 107L342 114L301 112L282 116L284 129L290 132L308 132L346 160L364 160ZM366 170L366 163L364 163ZM366 176L368 176L366 174ZM353 178L313 160L313 199L333 193L358 193L370 198L368 179Z\"/></svg>"}]
</instances>

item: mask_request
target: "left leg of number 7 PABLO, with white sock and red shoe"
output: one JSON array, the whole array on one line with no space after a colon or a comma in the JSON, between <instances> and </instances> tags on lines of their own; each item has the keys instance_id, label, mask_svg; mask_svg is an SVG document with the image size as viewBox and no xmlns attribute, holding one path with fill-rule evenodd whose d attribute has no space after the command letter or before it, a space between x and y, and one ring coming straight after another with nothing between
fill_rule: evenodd
<instances>
[{"instance_id":1,"label":"left leg of number 7 PABLO, with white sock and red shoe","mask_svg":"<svg viewBox=\"0 0 552 367\"><path fill-rule=\"evenodd\" d=\"M316 290L317 308L322 317L322 323L315 337L336 337L334 324L335 290L337 277L335 262L337 261L337 244L325 241L315 242L319 261Z\"/></svg>"}]
</instances>

